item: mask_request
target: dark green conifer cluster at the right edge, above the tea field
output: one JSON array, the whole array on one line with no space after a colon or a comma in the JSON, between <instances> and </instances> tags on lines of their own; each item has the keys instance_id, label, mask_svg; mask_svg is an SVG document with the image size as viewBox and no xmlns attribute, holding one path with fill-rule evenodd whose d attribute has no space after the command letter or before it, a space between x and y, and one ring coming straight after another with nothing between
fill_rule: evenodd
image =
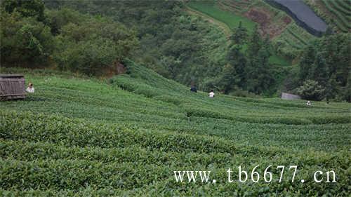
<instances>
[{"instance_id":1,"label":"dark green conifer cluster at the right edge, above the tea field","mask_svg":"<svg viewBox=\"0 0 351 197\"><path fill-rule=\"evenodd\" d=\"M340 90L347 89L350 78L350 51L350 34L325 36L305 48L299 63L300 81L316 81L322 89L326 89L325 95L315 99L326 97L327 100L348 100L347 95L343 95ZM297 83L298 86L301 82Z\"/></svg>"}]
</instances>

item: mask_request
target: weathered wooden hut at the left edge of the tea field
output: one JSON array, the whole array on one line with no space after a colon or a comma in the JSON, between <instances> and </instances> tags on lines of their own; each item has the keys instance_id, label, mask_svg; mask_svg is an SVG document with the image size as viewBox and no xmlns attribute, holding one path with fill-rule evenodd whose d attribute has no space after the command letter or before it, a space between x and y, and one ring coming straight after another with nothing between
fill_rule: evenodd
<instances>
[{"instance_id":1,"label":"weathered wooden hut at the left edge of the tea field","mask_svg":"<svg viewBox=\"0 0 351 197\"><path fill-rule=\"evenodd\" d=\"M25 77L20 74L0 74L0 100L24 99Z\"/></svg>"}]
</instances>

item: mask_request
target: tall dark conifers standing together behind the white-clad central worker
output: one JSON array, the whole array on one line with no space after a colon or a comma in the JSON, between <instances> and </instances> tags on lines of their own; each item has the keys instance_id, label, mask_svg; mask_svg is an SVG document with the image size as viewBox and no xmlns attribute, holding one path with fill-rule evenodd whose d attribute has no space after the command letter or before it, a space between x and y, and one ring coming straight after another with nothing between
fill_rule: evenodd
<instances>
[{"instance_id":1,"label":"tall dark conifers standing together behind the white-clad central worker","mask_svg":"<svg viewBox=\"0 0 351 197\"><path fill-rule=\"evenodd\" d=\"M270 41L268 38L263 41L258 29L247 37L246 29L239 23L231 36L232 45L227 52L228 64L216 80L208 83L225 94L248 90L250 93L272 95L275 91L273 84L276 82L270 64ZM276 79L279 79L280 73L281 71L276 72Z\"/></svg>"}]
</instances>

